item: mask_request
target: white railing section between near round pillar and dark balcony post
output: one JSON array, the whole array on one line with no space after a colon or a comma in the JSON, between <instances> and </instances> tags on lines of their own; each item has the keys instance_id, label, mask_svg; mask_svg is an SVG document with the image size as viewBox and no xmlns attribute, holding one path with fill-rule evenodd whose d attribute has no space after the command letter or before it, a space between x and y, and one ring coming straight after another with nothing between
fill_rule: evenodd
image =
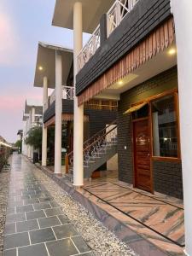
<instances>
[{"instance_id":1,"label":"white railing section between near round pillar and dark balcony post","mask_svg":"<svg viewBox=\"0 0 192 256\"><path fill-rule=\"evenodd\" d=\"M96 49L100 47L100 25L96 27L95 32L90 37L90 40L85 44L84 48L78 55L78 71L84 67L84 64L90 60L92 55L95 55Z\"/></svg>"}]
</instances>

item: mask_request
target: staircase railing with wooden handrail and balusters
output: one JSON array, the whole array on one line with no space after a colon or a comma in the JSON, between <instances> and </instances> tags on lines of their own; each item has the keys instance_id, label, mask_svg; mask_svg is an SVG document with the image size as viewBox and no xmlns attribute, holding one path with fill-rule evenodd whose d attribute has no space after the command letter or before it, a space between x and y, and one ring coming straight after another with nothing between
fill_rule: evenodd
<instances>
[{"instance_id":1,"label":"staircase railing with wooden handrail and balusters","mask_svg":"<svg viewBox=\"0 0 192 256\"><path fill-rule=\"evenodd\" d=\"M104 138L110 139L109 134L111 132L114 132L116 128L117 128L117 120L114 120L110 125L107 125L101 131L96 132L94 136L90 137L88 140L84 142L83 153L84 153L85 161L88 161L90 157L93 156L94 152L96 151L96 147L99 147L99 145L102 145L104 143ZM66 164L66 173L68 173L69 167L73 166L73 151L70 152L69 154L66 154L65 164Z\"/></svg>"}]
</instances>

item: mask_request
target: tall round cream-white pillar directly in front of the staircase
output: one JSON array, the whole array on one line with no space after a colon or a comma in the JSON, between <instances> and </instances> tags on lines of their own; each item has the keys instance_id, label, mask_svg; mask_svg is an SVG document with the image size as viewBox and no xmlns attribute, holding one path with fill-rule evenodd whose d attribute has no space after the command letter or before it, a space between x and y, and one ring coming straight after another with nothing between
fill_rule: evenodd
<instances>
[{"instance_id":1,"label":"tall round cream-white pillar directly in front of the staircase","mask_svg":"<svg viewBox=\"0 0 192 256\"><path fill-rule=\"evenodd\" d=\"M88 15L88 14L87 14ZM82 32L82 3L76 2L73 6L73 61L74 61L74 85L78 73L77 56L83 47ZM74 129L73 129L73 184L84 184L84 105L78 106L78 97L74 96Z\"/></svg>"}]
</instances>

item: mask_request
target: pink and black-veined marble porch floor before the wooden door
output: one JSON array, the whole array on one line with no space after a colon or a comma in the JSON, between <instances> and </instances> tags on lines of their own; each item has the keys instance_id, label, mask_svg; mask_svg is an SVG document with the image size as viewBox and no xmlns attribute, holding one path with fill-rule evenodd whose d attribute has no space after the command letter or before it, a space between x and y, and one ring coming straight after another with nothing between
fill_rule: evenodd
<instances>
[{"instance_id":1,"label":"pink and black-veined marble porch floor before the wooden door","mask_svg":"<svg viewBox=\"0 0 192 256\"><path fill-rule=\"evenodd\" d=\"M117 183L97 183L84 189L160 236L184 246L183 208L174 202L171 204Z\"/></svg>"}]
</instances>

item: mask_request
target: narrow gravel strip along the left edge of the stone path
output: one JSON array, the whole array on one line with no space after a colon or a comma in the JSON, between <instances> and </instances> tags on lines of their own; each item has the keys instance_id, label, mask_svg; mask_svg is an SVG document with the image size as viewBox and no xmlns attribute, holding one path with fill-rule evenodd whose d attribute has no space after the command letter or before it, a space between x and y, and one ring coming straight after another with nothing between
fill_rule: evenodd
<instances>
[{"instance_id":1,"label":"narrow gravel strip along the left edge of the stone path","mask_svg":"<svg viewBox=\"0 0 192 256\"><path fill-rule=\"evenodd\" d=\"M0 172L0 255L3 255L3 234L9 194L10 172Z\"/></svg>"}]
</instances>

